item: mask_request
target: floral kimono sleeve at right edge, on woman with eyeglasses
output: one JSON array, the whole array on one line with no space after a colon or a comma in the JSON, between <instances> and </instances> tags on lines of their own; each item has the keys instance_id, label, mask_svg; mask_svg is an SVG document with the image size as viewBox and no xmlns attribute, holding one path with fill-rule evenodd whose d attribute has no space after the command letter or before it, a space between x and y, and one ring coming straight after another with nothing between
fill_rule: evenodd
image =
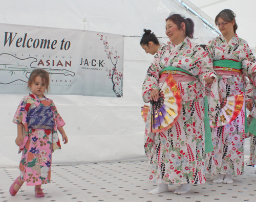
<instances>
[{"instance_id":1,"label":"floral kimono sleeve at right edge, on woman with eyeglasses","mask_svg":"<svg viewBox=\"0 0 256 202\"><path fill-rule=\"evenodd\" d=\"M253 72L256 72L256 60L251 52L251 49L249 48L248 43L246 41L243 43L243 50L246 53L246 56L244 60L242 60L242 69L245 75L251 75Z\"/></svg>"}]
</instances>

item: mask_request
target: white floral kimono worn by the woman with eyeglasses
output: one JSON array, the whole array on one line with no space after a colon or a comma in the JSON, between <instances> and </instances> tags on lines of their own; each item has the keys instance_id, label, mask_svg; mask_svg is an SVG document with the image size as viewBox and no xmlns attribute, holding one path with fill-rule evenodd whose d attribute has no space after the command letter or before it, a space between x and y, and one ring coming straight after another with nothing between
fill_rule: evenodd
<instances>
[{"instance_id":1,"label":"white floral kimono worn by the woman with eyeglasses","mask_svg":"<svg viewBox=\"0 0 256 202\"><path fill-rule=\"evenodd\" d=\"M230 123L212 128L214 152L206 154L206 168L212 175L240 175L244 171L245 137L245 75L251 77L256 71L254 56L247 42L237 34L227 43L220 35L206 46L214 69L218 74L218 88L222 97L242 95L244 103L239 115ZM217 67L215 61L232 60L240 62L241 69Z\"/></svg>"}]
</instances>

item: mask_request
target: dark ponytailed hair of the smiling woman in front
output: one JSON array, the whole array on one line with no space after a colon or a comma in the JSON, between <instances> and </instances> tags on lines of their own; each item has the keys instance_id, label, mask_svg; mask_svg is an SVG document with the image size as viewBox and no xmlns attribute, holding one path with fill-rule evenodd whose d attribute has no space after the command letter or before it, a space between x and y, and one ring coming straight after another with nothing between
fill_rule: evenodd
<instances>
[{"instance_id":1,"label":"dark ponytailed hair of the smiling woman in front","mask_svg":"<svg viewBox=\"0 0 256 202\"><path fill-rule=\"evenodd\" d=\"M191 20L190 18L185 18L182 17L180 14L170 14L165 21L167 20L172 20L178 27L179 30L182 29L181 27L181 23L184 22L185 24L185 35L186 37L188 36L189 38L193 38L193 34L194 34L194 22L193 20Z\"/></svg>"}]
</instances>

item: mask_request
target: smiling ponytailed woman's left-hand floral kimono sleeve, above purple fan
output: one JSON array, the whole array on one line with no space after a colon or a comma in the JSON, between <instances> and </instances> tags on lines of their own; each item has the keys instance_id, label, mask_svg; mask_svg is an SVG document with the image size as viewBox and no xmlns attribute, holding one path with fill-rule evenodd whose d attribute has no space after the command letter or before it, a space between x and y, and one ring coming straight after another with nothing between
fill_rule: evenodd
<instances>
[{"instance_id":1,"label":"smiling ponytailed woman's left-hand floral kimono sleeve, above purple fan","mask_svg":"<svg viewBox=\"0 0 256 202\"><path fill-rule=\"evenodd\" d=\"M146 78L142 85L142 98L145 103L150 102L150 93L153 89L158 89L159 82L159 55L155 55L154 60L146 72Z\"/></svg>"}]
</instances>

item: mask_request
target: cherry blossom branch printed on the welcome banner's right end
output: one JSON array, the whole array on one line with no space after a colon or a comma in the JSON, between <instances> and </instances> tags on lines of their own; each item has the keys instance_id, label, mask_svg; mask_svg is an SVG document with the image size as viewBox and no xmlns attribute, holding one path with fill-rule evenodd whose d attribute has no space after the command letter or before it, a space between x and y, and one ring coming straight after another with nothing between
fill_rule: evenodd
<instances>
[{"instance_id":1,"label":"cherry blossom branch printed on the welcome banner's right end","mask_svg":"<svg viewBox=\"0 0 256 202\"><path fill-rule=\"evenodd\" d=\"M99 34L97 35L100 37L100 40L103 42L106 56L113 64L112 69L108 69L108 67L106 67L106 72L108 72L106 75L112 81L112 84L113 84L112 90L114 91L117 97L122 97L123 96L123 73L120 71L117 71L116 69L117 61L120 57L117 55L117 51L115 51L115 55L113 56L113 47L110 50L108 41L106 41L106 37L104 39L103 35L99 35Z\"/></svg>"}]
</instances>

